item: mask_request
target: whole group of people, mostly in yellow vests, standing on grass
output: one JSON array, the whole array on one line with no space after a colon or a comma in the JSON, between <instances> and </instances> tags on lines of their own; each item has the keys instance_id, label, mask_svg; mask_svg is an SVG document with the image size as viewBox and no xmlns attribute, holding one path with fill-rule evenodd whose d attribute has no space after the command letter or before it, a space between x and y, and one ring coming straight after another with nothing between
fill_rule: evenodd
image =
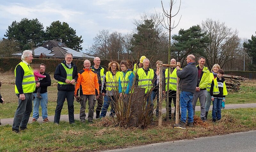
<instances>
[{"instance_id":1,"label":"whole group of people, mostly in yellow vests, standing on grass","mask_svg":"<svg viewBox=\"0 0 256 152\"><path fill-rule=\"evenodd\" d=\"M47 87L51 86L51 78L45 72L46 66L40 65L40 71L34 72L31 68L32 51L25 50L21 56L21 62L14 70L15 93L18 96L18 108L14 115L12 131L19 133L20 130L27 129L27 123L32 112L36 122L39 118L39 105L42 107L43 122L50 122L47 114L48 94ZM159 103L159 66L156 70L149 68L149 59L140 57L140 62L135 64L133 70L129 69L129 63L122 60L119 63L111 61L108 64L108 71L100 66L100 58L95 57L91 65L89 60L84 61L83 69L77 72L76 65L72 62L73 55L65 54L65 60L60 63L54 72L54 79L58 81L57 106L54 115L54 123L60 123L60 113L63 103L68 103L69 123L75 123L74 119L74 98L81 104L80 121L85 122L85 108L88 100L89 113L88 122L93 123L94 106L97 102L96 118L105 117L109 105L111 106L110 116L114 117L116 100L118 97L124 98L124 112L128 109L128 98L133 93L133 87L145 89L145 100L147 101L148 115L153 122L154 98L157 96L156 116L158 115ZM171 102L176 104L177 77L180 78L180 108L181 119L176 126L185 126L188 110L188 126L193 126L193 116L195 115L195 105L199 97L201 105L201 119L205 121L209 111L211 101L213 102L212 121L221 118L221 101L225 101L227 89L225 80L221 76L224 74L219 65L214 65L212 73L204 66L205 58L199 58L199 65L196 66L195 57L187 57L188 65L182 70L179 66L163 72L163 93L169 93L169 119L171 119ZM156 62L156 65L159 61ZM175 65L176 60L172 59L171 64ZM121 70L120 70L121 69ZM35 70L36 71L36 70ZM39 72L39 75L38 75ZM167 84L167 77L170 77ZM167 86L169 85L169 90ZM80 90L80 91L79 91ZM211 96L210 96L211 95ZM104 101L104 103L103 103ZM176 106L175 106L176 107ZM205 109L206 107L206 109ZM193 110L193 111L192 111ZM174 114L175 118L175 114Z\"/></svg>"}]
</instances>

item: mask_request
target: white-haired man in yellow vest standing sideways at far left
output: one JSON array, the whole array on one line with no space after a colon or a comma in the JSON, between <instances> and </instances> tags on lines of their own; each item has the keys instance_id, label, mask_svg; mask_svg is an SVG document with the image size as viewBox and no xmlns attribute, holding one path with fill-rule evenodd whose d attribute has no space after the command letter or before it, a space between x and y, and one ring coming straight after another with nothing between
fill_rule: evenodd
<instances>
[{"instance_id":1,"label":"white-haired man in yellow vest standing sideways at far left","mask_svg":"<svg viewBox=\"0 0 256 152\"><path fill-rule=\"evenodd\" d=\"M21 60L14 70L15 93L18 96L18 108L12 125L12 131L15 133L27 129L28 119L32 112L33 92L36 89L34 72L29 65L33 60L32 51L23 51Z\"/></svg>"}]
</instances>

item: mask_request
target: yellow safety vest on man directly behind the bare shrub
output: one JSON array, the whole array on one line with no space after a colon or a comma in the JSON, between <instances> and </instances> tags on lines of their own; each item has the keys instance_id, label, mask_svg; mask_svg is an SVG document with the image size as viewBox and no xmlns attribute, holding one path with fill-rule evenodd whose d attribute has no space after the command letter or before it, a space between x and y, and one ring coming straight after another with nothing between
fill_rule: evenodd
<instances>
[{"instance_id":1,"label":"yellow safety vest on man directly behind the bare shrub","mask_svg":"<svg viewBox=\"0 0 256 152\"><path fill-rule=\"evenodd\" d=\"M154 71L153 69L149 69L148 75L146 75L143 68L139 68L137 71L137 74L139 76L139 87L145 88L145 94L148 93L148 91L151 90L153 87L152 80L154 79Z\"/></svg>"}]
</instances>

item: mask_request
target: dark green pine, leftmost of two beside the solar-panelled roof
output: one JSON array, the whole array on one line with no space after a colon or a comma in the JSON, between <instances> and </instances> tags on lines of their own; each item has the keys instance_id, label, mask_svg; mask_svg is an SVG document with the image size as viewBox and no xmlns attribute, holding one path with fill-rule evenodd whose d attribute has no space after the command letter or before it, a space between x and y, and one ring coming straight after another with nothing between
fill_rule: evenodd
<instances>
[{"instance_id":1,"label":"dark green pine, leftmost of two beside the solar-panelled roof","mask_svg":"<svg viewBox=\"0 0 256 152\"><path fill-rule=\"evenodd\" d=\"M8 26L4 36L9 40L19 42L22 50L25 49L24 46L28 43L33 44L33 48L44 42L44 27L38 19L31 20L23 18L20 22L13 21L12 24Z\"/></svg>"}]
</instances>

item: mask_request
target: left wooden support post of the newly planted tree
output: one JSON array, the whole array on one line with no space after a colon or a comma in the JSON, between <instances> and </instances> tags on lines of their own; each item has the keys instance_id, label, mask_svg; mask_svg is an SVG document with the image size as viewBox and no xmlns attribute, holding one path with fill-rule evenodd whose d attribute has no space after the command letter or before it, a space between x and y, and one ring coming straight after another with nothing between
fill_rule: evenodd
<instances>
[{"instance_id":1,"label":"left wooden support post of the newly planted tree","mask_svg":"<svg viewBox=\"0 0 256 152\"><path fill-rule=\"evenodd\" d=\"M160 61L160 63L158 64L159 66L159 89L158 89L158 96L159 96L159 105L158 105L158 127L162 127L162 83L163 83L163 66L162 66L162 61Z\"/></svg>"}]
</instances>

